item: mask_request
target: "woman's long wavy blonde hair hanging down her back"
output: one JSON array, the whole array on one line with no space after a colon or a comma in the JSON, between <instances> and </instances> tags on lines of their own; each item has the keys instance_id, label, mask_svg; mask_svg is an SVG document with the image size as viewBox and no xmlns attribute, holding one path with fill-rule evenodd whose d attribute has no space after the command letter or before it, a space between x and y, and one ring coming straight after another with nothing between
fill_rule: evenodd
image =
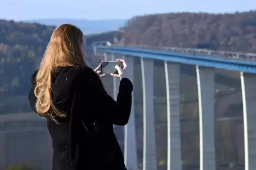
<instances>
[{"instance_id":1,"label":"woman's long wavy blonde hair hanging down her back","mask_svg":"<svg viewBox=\"0 0 256 170\"><path fill-rule=\"evenodd\" d=\"M82 31L71 24L58 26L47 45L44 57L36 76L36 111L42 116L50 116L56 123L56 117L63 118L66 113L58 110L52 102L52 73L58 66L86 66L82 52L84 41Z\"/></svg>"}]
</instances>

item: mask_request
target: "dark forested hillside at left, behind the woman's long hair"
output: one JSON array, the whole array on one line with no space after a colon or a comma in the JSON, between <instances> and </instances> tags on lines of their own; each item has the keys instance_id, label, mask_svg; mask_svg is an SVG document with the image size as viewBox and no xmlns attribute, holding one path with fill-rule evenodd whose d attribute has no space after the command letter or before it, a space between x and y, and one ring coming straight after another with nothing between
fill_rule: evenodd
<instances>
[{"instance_id":1,"label":"dark forested hillside at left, behind the woman's long hair","mask_svg":"<svg viewBox=\"0 0 256 170\"><path fill-rule=\"evenodd\" d=\"M0 114L31 111L31 73L38 67L54 26L0 20ZM99 63L87 52L88 62Z\"/></svg>"}]
</instances>

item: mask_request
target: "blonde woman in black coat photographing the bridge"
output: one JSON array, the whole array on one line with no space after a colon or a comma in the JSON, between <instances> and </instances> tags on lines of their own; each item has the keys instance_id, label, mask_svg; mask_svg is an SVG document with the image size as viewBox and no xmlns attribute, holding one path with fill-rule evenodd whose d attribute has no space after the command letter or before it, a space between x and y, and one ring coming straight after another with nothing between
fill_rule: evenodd
<instances>
[{"instance_id":1,"label":"blonde woman in black coat photographing the bridge","mask_svg":"<svg viewBox=\"0 0 256 170\"><path fill-rule=\"evenodd\" d=\"M47 118L53 142L53 170L124 170L124 159L113 124L126 125L131 111L133 85L124 69L117 101L104 90L99 68L85 59L82 31L70 24L56 28L31 78L32 109Z\"/></svg>"}]
</instances>

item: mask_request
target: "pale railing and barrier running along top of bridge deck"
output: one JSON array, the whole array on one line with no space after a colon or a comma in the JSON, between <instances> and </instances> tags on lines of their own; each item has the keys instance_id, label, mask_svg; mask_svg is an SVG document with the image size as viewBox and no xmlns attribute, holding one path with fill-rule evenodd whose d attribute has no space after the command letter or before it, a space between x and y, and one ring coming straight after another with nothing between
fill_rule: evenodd
<instances>
[{"instance_id":1,"label":"pale railing and barrier running along top of bridge deck","mask_svg":"<svg viewBox=\"0 0 256 170\"><path fill-rule=\"evenodd\" d=\"M113 46L120 46L120 45L114 44ZM186 53L186 54L200 55L200 56L214 56L214 57L221 57L221 58L233 59L233 60L256 61L255 53L219 51L219 50L209 50L209 49L201 49L201 48L167 47L167 46L158 46L158 47L147 46L147 45L139 45L139 46L126 45L126 46L156 49L156 50L167 50L171 52Z\"/></svg>"}]
</instances>

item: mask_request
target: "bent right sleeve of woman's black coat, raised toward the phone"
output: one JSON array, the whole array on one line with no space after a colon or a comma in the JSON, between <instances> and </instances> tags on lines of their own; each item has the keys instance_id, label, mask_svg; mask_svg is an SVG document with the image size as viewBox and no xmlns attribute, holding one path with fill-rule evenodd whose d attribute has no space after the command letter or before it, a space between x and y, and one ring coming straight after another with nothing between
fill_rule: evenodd
<instances>
[{"instance_id":1,"label":"bent right sleeve of woman's black coat, raised toward the phone","mask_svg":"<svg viewBox=\"0 0 256 170\"><path fill-rule=\"evenodd\" d=\"M80 79L81 81L81 79ZM84 78L78 92L82 92L81 100L84 112L94 114L95 117L107 120L112 124L126 125L130 118L132 107L132 82L123 78L120 81L117 101L110 97L103 88L100 80Z\"/></svg>"}]
</instances>

